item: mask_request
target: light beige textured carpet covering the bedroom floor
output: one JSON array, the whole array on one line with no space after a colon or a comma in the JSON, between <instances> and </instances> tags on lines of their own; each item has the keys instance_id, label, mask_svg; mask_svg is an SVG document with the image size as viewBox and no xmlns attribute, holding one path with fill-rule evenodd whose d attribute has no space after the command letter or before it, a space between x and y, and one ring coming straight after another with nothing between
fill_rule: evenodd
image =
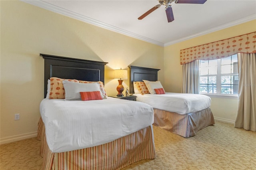
<instances>
[{"instance_id":1,"label":"light beige textured carpet covering the bedroom floor","mask_svg":"<svg viewBox=\"0 0 256 170\"><path fill-rule=\"evenodd\" d=\"M216 121L196 136L184 138L154 127L156 159L124 170L256 170L256 132ZM39 170L42 158L36 138L0 146L1 170Z\"/></svg>"}]
</instances>

